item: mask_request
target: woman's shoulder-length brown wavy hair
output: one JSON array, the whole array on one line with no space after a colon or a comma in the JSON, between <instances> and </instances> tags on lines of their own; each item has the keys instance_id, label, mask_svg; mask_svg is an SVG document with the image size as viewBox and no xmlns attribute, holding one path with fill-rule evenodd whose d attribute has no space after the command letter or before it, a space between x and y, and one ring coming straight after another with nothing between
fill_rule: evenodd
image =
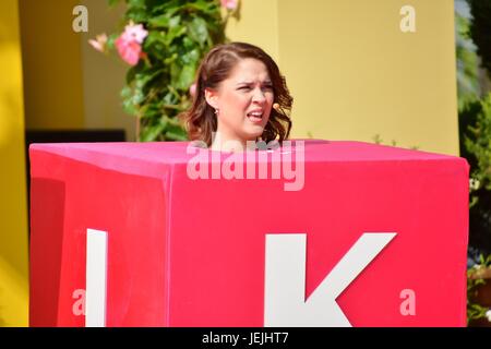
<instances>
[{"instance_id":1,"label":"woman's shoulder-length brown wavy hair","mask_svg":"<svg viewBox=\"0 0 491 349\"><path fill-rule=\"evenodd\" d=\"M270 120L264 127L262 141L287 140L291 130L289 112L294 104L286 85L285 76L279 72L275 61L261 48L246 43L230 43L214 47L201 61L196 73L196 89L191 108L182 112L179 118L184 123L191 141L203 141L212 145L212 133L216 132L217 119L215 110L206 103L205 88L217 89L219 84L229 77L238 61L254 58L266 65L273 83L274 104L279 108L272 108Z\"/></svg>"}]
</instances>

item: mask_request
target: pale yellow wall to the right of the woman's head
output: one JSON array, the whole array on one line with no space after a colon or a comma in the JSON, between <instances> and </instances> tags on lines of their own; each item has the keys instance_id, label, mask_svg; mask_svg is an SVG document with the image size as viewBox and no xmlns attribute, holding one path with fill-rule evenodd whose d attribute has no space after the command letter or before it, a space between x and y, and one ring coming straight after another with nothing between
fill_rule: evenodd
<instances>
[{"instance_id":1,"label":"pale yellow wall to the right of the woman's head","mask_svg":"<svg viewBox=\"0 0 491 349\"><path fill-rule=\"evenodd\" d=\"M405 4L416 33L399 29ZM452 0L243 0L227 35L278 59L295 98L294 137L379 134L458 154Z\"/></svg>"}]
</instances>

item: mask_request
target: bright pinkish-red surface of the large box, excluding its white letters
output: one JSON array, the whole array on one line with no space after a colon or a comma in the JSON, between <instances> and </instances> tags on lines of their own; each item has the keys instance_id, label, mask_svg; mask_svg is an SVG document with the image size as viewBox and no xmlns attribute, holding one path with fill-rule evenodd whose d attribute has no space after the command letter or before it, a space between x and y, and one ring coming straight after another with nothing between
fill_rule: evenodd
<instances>
[{"instance_id":1,"label":"bright pinkish-red surface of the large box, excluding its white letters","mask_svg":"<svg viewBox=\"0 0 491 349\"><path fill-rule=\"evenodd\" d=\"M185 146L31 146L32 325L84 325L87 228L108 231L108 326L263 326L265 234L289 232L308 237L307 297L363 232L397 232L337 299L354 326L465 325L465 159L307 141L304 186L288 192L191 180Z\"/></svg>"}]
</instances>

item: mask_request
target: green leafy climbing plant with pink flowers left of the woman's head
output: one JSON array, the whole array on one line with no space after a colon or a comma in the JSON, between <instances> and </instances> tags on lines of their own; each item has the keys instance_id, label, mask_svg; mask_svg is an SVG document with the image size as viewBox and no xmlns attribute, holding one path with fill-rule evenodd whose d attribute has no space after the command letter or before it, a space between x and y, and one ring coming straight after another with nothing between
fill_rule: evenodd
<instances>
[{"instance_id":1,"label":"green leafy climbing plant with pink flowers left of the woman's head","mask_svg":"<svg viewBox=\"0 0 491 349\"><path fill-rule=\"evenodd\" d=\"M121 91L124 111L137 118L137 141L183 141L187 134L176 117L191 105L189 87L201 59L225 41L219 1L124 2L124 24L143 24L148 32L142 45L144 58L128 70ZM115 48L118 36L109 36L108 48Z\"/></svg>"}]
</instances>

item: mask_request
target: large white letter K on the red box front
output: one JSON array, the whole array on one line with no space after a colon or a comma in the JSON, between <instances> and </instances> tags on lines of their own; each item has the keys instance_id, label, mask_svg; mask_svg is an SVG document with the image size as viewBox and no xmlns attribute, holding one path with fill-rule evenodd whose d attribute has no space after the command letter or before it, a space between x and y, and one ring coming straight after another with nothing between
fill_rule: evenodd
<instances>
[{"instance_id":1,"label":"large white letter K on the red box front","mask_svg":"<svg viewBox=\"0 0 491 349\"><path fill-rule=\"evenodd\" d=\"M395 236L363 233L306 301L307 234L266 234L264 326L351 326L336 298Z\"/></svg>"}]
</instances>

